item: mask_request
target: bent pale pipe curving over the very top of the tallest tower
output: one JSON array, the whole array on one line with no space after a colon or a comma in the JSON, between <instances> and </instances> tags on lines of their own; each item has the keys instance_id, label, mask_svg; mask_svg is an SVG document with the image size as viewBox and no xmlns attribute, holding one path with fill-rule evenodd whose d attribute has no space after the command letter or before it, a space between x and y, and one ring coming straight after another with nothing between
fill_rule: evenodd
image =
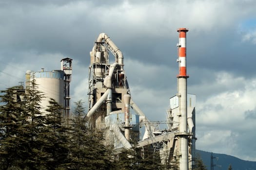
<instances>
[{"instance_id":1,"label":"bent pale pipe curving over the very top of the tallest tower","mask_svg":"<svg viewBox=\"0 0 256 170\"><path fill-rule=\"evenodd\" d=\"M117 62L121 67L121 70L123 70L123 54L120 51L120 49L118 49L118 47L116 46L116 44L110 39L110 37L105 34L105 33L101 33L98 35L98 39L97 42L102 42L102 40L105 40L105 43L111 48L111 50L114 52L114 55L117 56Z\"/></svg>"}]
</instances>

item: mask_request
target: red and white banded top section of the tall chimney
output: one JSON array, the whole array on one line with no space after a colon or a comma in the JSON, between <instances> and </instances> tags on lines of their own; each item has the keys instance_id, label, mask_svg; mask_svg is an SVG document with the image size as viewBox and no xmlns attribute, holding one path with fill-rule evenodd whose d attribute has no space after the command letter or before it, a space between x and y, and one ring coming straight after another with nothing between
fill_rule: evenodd
<instances>
[{"instance_id":1,"label":"red and white banded top section of the tall chimney","mask_svg":"<svg viewBox=\"0 0 256 170\"><path fill-rule=\"evenodd\" d=\"M186 69L186 33L188 30L186 28L177 29L179 33L177 44L178 48L178 62L179 62L179 74L177 77L188 77Z\"/></svg>"}]
</instances>

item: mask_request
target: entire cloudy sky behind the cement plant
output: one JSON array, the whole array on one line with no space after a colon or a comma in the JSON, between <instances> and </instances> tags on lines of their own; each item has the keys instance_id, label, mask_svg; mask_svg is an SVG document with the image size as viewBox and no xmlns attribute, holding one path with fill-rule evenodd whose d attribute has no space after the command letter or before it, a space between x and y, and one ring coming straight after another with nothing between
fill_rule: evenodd
<instances>
[{"instance_id":1,"label":"entire cloudy sky behind the cement plant","mask_svg":"<svg viewBox=\"0 0 256 170\"><path fill-rule=\"evenodd\" d=\"M72 100L86 102L89 52L104 32L124 54L133 100L165 120L180 27L189 29L197 149L256 161L255 0L0 0L0 89L70 57Z\"/></svg>"}]
</instances>

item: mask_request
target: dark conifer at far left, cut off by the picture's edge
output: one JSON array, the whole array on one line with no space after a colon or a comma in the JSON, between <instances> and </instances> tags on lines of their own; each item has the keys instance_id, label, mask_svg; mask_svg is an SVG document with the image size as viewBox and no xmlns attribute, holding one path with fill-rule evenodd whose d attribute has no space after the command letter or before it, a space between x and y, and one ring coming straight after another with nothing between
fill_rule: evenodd
<instances>
[{"instance_id":1,"label":"dark conifer at far left, cut off by the picture's edge","mask_svg":"<svg viewBox=\"0 0 256 170\"><path fill-rule=\"evenodd\" d=\"M24 112L24 105L15 100L19 86L1 90L0 96L0 169L14 167L17 160L17 144L20 136L19 116Z\"/></svg>"}]
</instances>

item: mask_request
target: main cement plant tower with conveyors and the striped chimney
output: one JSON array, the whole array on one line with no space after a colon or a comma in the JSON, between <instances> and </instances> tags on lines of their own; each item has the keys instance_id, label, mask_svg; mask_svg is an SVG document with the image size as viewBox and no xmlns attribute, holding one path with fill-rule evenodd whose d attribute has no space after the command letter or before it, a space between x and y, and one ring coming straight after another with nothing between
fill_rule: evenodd
<instances>
[{"instance_id":1,"label":"main cement plant tower with conveyors and the striped chimney","mask_svg":"<svg viewBox=\"0 0 256 170\"><path fill-rule=\"evenodd\" d=\"M170 99L166 124L168 130L160 131L156 121L149 121L133 101L124 70L123 54L110 39L101 33L90 52L88 79L88 120L91 128L105 132L106 145L114 146L118 153L131 148L131 132L140 139L140 127L145 132L137 147L152 145L160 153L163 164L179 162L180 170L192 170L195 153L195 95L187 95L186 32L177 30L179 43L178 93ZM109 63L109 53L115 57ZM187 97L189 100L187 100ZM133 112L131 111L131 109ZM134 137L134 136L133 136Z\"/></svg>"}]
</instances>

